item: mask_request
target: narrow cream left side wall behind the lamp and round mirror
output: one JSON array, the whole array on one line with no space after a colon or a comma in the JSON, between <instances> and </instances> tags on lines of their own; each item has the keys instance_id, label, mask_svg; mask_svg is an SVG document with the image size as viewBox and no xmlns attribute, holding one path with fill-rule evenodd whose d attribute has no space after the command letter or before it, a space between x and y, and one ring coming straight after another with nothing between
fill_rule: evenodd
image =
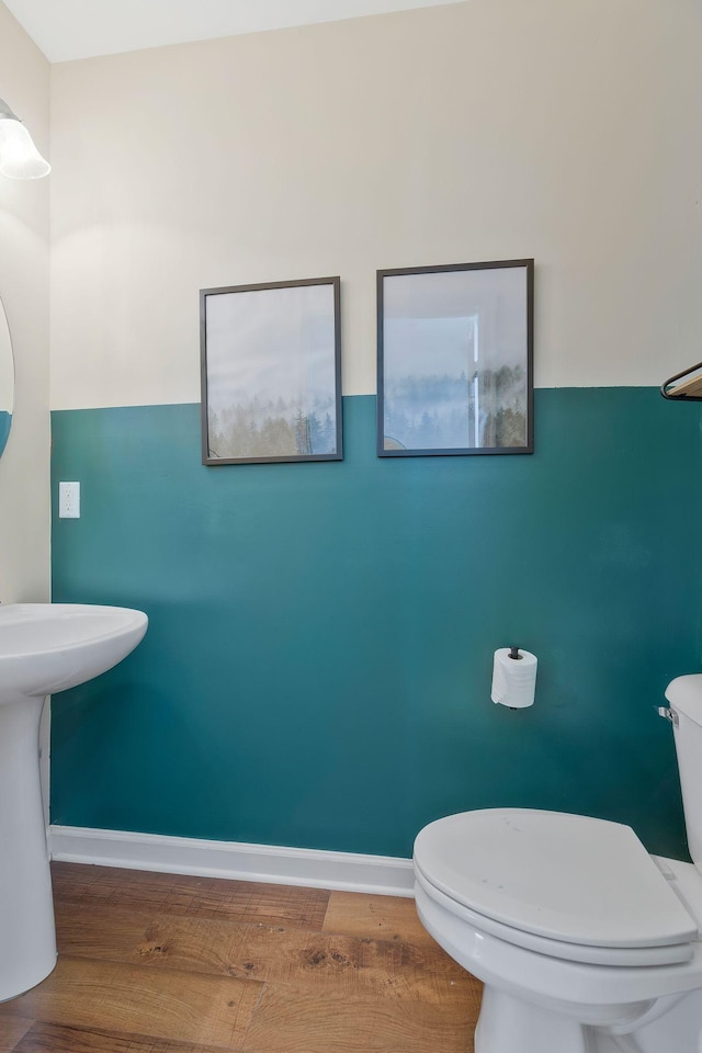
<instances>
[{"instance_id":1,"label":"narrow cream left side wall behind the lamp and round mirror","mask_svg":"<svg viewBox=\"0 0 702 1053\"><path fill-rule=\"evenodd\" d=\"M0 99L49 140L49 65L0 2ZM15 362L12 430L0 457L0 601L49 596L48 180L0 177L0 296Z\"/></svg>"}]
</instances>

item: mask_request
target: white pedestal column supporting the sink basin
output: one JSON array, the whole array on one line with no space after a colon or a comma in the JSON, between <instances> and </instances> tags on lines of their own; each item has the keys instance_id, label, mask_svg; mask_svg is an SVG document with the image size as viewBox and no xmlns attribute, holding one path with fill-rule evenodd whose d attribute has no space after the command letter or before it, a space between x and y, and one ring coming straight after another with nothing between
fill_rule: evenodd
<instances>
[{"instance_id":1,"label":"white pedestal column supporting the sink basin","mask_svg":"<svg viewBox=\"0 0 702 1053\"><path fill-rule=\"evenodd\" d=\"M0 705L0 1001L56 964L54 901L38 765L43 698Z\"/></svg>"}]
</instances>

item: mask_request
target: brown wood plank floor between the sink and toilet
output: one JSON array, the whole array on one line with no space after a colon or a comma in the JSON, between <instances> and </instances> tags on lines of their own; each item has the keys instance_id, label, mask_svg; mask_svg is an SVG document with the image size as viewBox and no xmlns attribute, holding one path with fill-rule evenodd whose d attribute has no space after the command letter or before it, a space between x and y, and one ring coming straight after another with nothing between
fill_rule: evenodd
<instances>
[{"instance_id":1,"label":"brown wood plank floor between the sink and toilet","mask_svg":"<svg viewBox=\"0 0 702 1053\"><path fill-rule=\"evenodd\" d=\"M54 863L58 964L0 1053L473 1053L411 899Z\"/></svg>"}]
</instances>

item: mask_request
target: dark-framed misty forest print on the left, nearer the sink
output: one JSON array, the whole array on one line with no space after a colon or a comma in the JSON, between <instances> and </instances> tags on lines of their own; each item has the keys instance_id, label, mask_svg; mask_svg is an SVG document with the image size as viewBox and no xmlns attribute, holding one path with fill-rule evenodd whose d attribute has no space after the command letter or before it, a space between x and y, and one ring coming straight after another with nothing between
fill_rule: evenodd
<instances>
[{"instance_id":1,"label":"dark-framed misty forest print on the left, nearer the sink","mask_svg":"<svg viewBox=\"0 0 702 1053\"><path fill-rule=\"evenodd\" d=\"M201 292L203 462L340 460L338 278Z\"/></svg>"}]
</instances>

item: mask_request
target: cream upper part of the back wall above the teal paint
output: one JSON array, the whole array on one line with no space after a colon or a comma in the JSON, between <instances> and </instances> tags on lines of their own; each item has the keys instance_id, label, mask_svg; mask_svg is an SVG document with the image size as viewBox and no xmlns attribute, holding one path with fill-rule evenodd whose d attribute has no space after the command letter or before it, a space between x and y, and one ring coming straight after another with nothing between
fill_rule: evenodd
<instances>
[{"instance_id":1,"label":"cream upper part of the back wall above the teal paint","mask_svg":"<svg viewBox=\"0 0 702 1053\"><path fill-rule=\"evenodd\" d=\"M195 401L201 287L534 257L535 381L702 341L697 0L469 0L53 67L52 406Z\"/></svg>"}]
</instances>

